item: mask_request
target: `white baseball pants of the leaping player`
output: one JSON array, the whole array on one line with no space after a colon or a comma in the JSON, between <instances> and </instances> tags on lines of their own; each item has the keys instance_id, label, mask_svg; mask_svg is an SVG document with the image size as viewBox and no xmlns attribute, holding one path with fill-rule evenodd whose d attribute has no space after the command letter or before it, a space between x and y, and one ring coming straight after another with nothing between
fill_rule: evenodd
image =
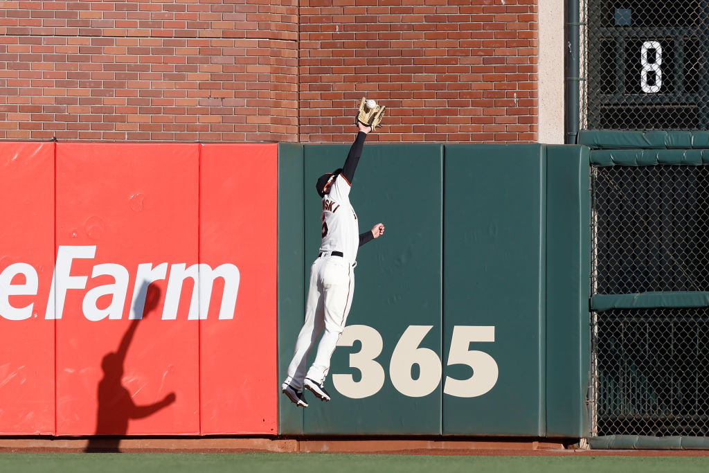
<instances>
[{"instance_id":1,"label":"white baseball pants of the leaping player","mask_svg":"<svg viewBox=\"0 0 709 473\"><path fill-rule=\"evenodd\" d=\"M354 268L339 256L323 255L311 266L310 289L306 302L306 320L298 334L293 360L288 367L286 383L303 389L306 377L322 384L330 369L337 340L345 329L347 314L354 293ZM308 355L318 336L325 329L318 344L315 362L306 374Z\"/></svg>"}]
</instances>

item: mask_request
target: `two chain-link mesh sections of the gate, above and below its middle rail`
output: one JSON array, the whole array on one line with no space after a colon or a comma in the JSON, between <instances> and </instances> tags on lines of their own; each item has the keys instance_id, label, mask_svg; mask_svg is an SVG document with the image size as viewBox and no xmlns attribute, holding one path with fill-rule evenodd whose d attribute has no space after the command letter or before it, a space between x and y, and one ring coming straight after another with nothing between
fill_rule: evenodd
<instances>
[{"instance_id":1,"label":"two chain-link mesh sections of the gate, above and below its middle rail","mask_svg":"<svg viewBox=\"0 0 709 473\"><path fill-rule=\"evenodd\" d=\"M592 294L709 291L709 166L594 167ZM709 308L593 315L597 435L709 435Z\"/></svg>"}]
</instances>

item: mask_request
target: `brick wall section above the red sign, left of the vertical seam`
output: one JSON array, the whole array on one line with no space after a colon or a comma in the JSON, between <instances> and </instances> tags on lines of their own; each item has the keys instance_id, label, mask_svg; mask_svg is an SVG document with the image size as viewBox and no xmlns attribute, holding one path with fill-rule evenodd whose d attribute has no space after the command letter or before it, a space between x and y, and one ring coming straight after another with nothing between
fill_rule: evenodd
<instances>
[{"instance_id":1,"label":"brick wall section above the red sign, left of the vertical seam","mask_svg":"<svg viewBox=\"0 0 709 473\"><path fill-rule=\"evenodd\" d=\"M294 141L296 1L0 1L0 138Z\"/></svg>"}]
</instances>

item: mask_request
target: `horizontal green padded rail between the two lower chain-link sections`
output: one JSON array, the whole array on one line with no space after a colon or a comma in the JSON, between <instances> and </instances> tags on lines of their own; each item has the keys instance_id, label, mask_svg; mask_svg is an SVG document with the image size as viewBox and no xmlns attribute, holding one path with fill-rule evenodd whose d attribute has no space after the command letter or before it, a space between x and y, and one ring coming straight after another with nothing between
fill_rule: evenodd
<instances>
[{"instance_id":1,"label":"horizontal green padded rail between the two lower chain-link sections","mask_svg":"<svg viewBox=\"0 0 709 473\"><path fill-rule=\"evenodd\" d=\"M709 292L640 292L636 294L596 294L591 297L593 311L613 308L709 307Z\"/></svg>"}]
</instances>

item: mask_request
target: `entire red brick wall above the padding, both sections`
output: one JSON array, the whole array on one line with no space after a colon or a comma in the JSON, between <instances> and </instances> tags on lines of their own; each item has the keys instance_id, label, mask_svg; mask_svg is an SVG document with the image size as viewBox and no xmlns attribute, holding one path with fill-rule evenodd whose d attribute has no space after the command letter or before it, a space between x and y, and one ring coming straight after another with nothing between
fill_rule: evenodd
<instances>
[{"instance_id":1,"label":"entire red brick wall above the padding, both sections","mask_svg":"<svg viewBox=\"0 0 709 473\"><path fill-rule=\"evenodd\" d=\"M534 141L536 4L0 1L0 139Z\"/></svg>"}]
</instances>

